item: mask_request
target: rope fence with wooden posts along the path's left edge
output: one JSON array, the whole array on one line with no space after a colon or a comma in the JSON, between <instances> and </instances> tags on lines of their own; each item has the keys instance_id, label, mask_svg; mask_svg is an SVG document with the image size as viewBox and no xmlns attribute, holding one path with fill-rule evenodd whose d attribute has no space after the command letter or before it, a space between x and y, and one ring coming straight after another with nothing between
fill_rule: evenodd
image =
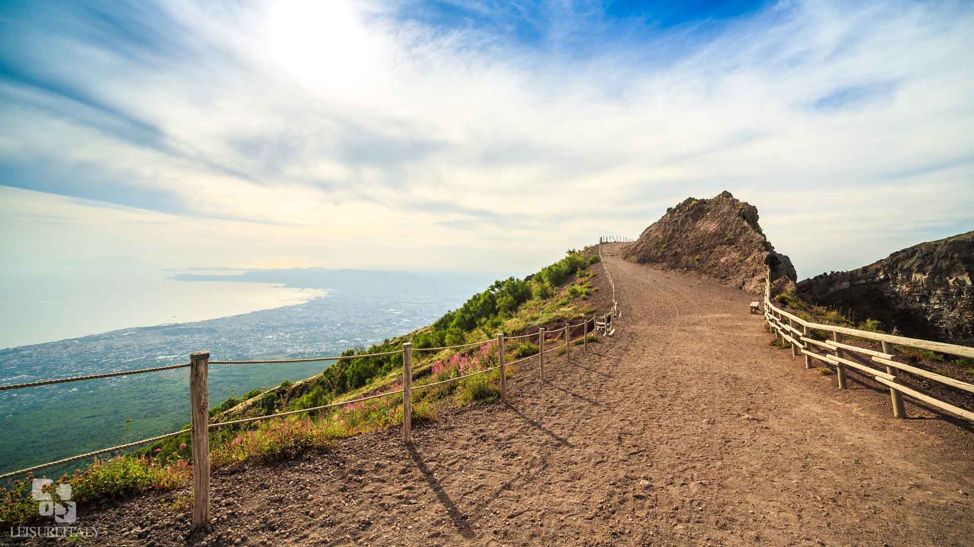
<instances>
[{"instance_id":1,"label":"rope fence with wooden posts along the path's left edge","mask_svg":"<svg viewBox=\"0 0 974 547\"><path fill-rule=\"evenodd\" d=\"M608 240L608 237L599 239L601 243L603 239ZM601 258L602 248L599 246L599 256ZM603 269L608 276L608 270ZM439 385L441 383L452 383L459 382L463 379L470 378L473 376L486 374L493 372L495 370L500 371L501 377L501 400L502 402L507 402L507 375L506 368L510 365L514 365L529 359L538 357L540 365L541 380L544 381L544 361L545 354L551 351L557 351L561 348L565 348L565 359L567 362L572 362L572 346L577 345L581 341L582 350L587 350L588 348L588 336L593 334L595 336L602 335L603 337L612 336L615 331L615 319L614 316L618 313L618 306L616 303L616 288L615 284L612 282L611 276L609 277L610 284L613 285L613 311L605 313L603 315L592 315L583 318L581 323L571 324L568 321L565 322L565 326L560 329L555 329L551 331L545 331L541 328L538 334L528 334L513 337L506 337L504 334L498 334L496 339L485 340L480 342L474 342L471 344L462 344L458 346L442 346L442 347L413 347L412 343L404 343L401 349L386 351L382 353L370 353L364 355L347 355L347 356L337 356L337 357L312 357L306 359L264 359L264 360L244 360L244 361L220 361L220 360L210 360L210 355L208 351L194 351L190 353L189 362L182 363L178 365L168 365L164 367L153 367L146 369L138 369L123 372L113 372L106 374L96 374L90 376L80 376L74 378L61 378L52 380L42 380L39 382L28 382L28 383L8 383L0 385L0 391L9 389L21 389L25 387L36 387L39 385L50 385L55 383L70 383L70 382L80 382L84 380L94 380L101 378L111 378L117 376L129 376L135 374L144 374L150 372L167 371L178 368L189 368L189 398L190 398L190 424L191 427L188 430L173 431L171 433L166 433L164 435L158 435L156 437L151 437L148 439L142 439L140 441L135 441L133 443L127 443L125 445L110 447L87 454L81 454L78 456L66 457L63 459L58 459L56 461L51 461L41 465L34 465L32 467L27 467L25 469L19 469L17 471L11 471L9 473L4 473L0 475L0 480L10 479L13 477L26 475L27 473L32 473L41 469L47 469L50 467L55 467L57 465L62 465L65 463L70 463L72 461L77 461L80 459L85 459L88 457L100 456L103 454L110 453L121 453L122 451L138 446L147 445L167 439L169 437L175 437L177 435L182 435L189 433L192 438L192 455L193 455L193 527L199 527L201 525L209 522L209 430L216 427L225 427L228 425L237 425L252 421L257 421L261 419L272 419L281 418L285 416L297 415L310 413L314 411L331 409L336 407L342 407L345 405L351 405L355 403L360 403L362 401L367 401L370 399L375 399L379 397L389 397L397 394L402 394L402 441L406 444L412 443L412 408L411 408L411 396L415 391L421 389L426 389L432 387L433 385ZM589 329L589 325L592 326ZM572 338L573 330L578 332L578 327L581 327L581 337ZM564 339L564 342L558 346L554 346L548 349L544 348L545 340L550 337L550 335L559 335L564 332L562 336L558 336L558 339ZM506 363L505 358L505 343L507 340L521 339L521 338L534 338L538 337L538 353L534 355L529 355L522 359ZM439 351L443 349L463 349L472 346L481 346L484 344L495 343L498 345L499 353L499 364L498 366L491 367L482 371L467 374L457 378L451 378L449 380L444 380L441 382L434 383L424 383L419 385L413 385L413 351ZM316 362L316 361L339 361L339 360L349 360L358 359L363 357L377 357L382 355L392 355L395 353L401 353L402 355L402 389L397 389L395 391L390 391L386 393L371 395L368 397L360 397L357 399L352 399L349 401L342 401L339 403L331 403L328 405L321 405L318 407L301 409L297 411L282 412L279 414L273 414L268 416L260 416L256 418L247 419L235 419L231 421L221 421L215 423L209 423L209 366L210 365L257 365L257 364L272 364L272 363L296 363L296 362Z\"/></svg>"}]
</instances>

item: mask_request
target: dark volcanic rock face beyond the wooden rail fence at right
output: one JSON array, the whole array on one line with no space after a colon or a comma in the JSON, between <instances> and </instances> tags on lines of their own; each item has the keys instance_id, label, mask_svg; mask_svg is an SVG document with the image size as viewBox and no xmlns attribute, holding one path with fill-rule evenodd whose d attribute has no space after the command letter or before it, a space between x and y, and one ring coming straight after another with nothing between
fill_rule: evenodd
<instances>
[{"instance_id":1,"label":"dark volcanic rock face beyond the wooden rail fence at right","mask_svg":"<svg viewBox=\"0 0 974 547\"><path fill-rule=\"evenodd\" d=\"M799 295L904 335L974 345L974 232L896 251L851 272L816 275Z\"/></svg>"}]
</instances>

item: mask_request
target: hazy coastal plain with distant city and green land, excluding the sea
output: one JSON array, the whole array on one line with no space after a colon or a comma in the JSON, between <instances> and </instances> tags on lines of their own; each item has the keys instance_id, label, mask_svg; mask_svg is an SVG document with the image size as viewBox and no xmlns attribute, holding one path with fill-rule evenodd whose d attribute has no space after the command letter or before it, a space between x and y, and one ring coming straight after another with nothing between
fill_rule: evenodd
<instances>
[{"instance_id":1,"label":"hazy coastal plain with distant city and green land, excluding the sea","mask_svg":"<svg viewBox=\"0 0 974 547\"><path fill-rule=\"evenodd\" d=\"M431 323L483 290L495 274L281 270L181 275L187 282L269 281L329 288L307 303L250 313L0 350L0 383L19 383L213 359L338 354ZM231 393L271 387L320 372L327 363L214 365L210 404ZM189 421L183 369L0 393L5 442L0 469L96 450L178 429ZM126 419L130 419L126 421ZM29 450L24 450L29 447Z\"/></svg>"}]
</instances>

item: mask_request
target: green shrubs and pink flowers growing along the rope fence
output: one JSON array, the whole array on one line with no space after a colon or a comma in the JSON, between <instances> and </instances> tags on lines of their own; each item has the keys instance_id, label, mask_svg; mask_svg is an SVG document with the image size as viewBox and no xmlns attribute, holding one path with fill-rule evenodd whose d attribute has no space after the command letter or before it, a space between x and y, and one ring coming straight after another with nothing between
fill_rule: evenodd
<instances>
[{"instance_id":1,"label":"green shrubs and pink flowers growing along the rope fence","mask_svg":"<svg viewBox=\"0 0 974 547\"><path fill-rule=\"evenodd\" d=\"M414 391L411 398L412 421L420 424L436 419L442 409L468 404L489 403L500 396L500 371L497 332L511 335L532 325L544 325L577 318L594 310L583 304L598 290L590 284L586 269L599 262L598 255L570 250L565 258L547 266L530 280L509 277L494 282L487 290L473 295L460 309L444 314L429 327L412 333L415 348L452 346L484 341L455 351L414 352L413 370L418 380L414 388L463 375L481 373L452 383L442 383ZM597 339L590 335L590 342ZM299 383L284 381L265 390L252 389L242 397L233 393L209 409L209 416L220 415L242 403L247 416L261 417L283 410L302 410L352 401L351 404L323 409L295 417L259 419L210 430L210 457L214 467L237 465L247 460L274 461L328 450L336 439L376 428L402 423L401 349L403 338L386 340L370 347L344 351L346 356L392 352L389 355L358 357L336 362L313 379ZM581 343L581 341L579 341ZM539 347L529 340L506 346L507 362L537 354ZM564 352L564 348L560 350ZM516 365L507 367L513 373ZM372 395L389 395L357 401ZM239 411L234 411L239 412ZM256 416L253 416L256 413ZM223 418L227 420L227 418ZM127 425L128 423L126 423ZM72 499L96 501L140 492L171 491L188 484L192 477L192 439L188 431L149 445L126 456L94 459L85 469L64 475L54 484L69 483ZM37 502L30 497L30 477L10 488L0 488L0 523L20 525L36 519ZM186 499L173 499L173 509L184 508Z\"/></svg>"}]
</instances>

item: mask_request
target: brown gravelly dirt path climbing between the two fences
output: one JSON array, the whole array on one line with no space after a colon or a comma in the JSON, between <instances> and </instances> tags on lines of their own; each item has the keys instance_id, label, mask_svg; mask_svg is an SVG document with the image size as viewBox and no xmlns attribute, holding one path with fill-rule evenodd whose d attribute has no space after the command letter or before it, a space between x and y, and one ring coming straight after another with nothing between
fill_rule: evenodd
<instances>
[{"instance_id":1,"label":"brown gravelly dirt path climbing between the two fences","mask_svg":"<svg viewBox=\"0 0 974 547\"><path fill-rule=\"evenodd\" d=\"M970 445L892 419L768 345L753 297L606 263L618 334L510 403L214 477L221 544L972 545ZM881 399L881 397L880 397ZM945 425L956 427L953 425ZM960 431L955 434L970 435ZM225 472L224 472L225 473ZM127 505L98 522L124 522ZM131 511L131 508L128 509ZM79 523L80 524L80 523ZM146 539L182 540L151 520ZM185 526L183 525L184 529ZM126 534L126 535L123 535Z\"/></svg>"}]
</instances>

